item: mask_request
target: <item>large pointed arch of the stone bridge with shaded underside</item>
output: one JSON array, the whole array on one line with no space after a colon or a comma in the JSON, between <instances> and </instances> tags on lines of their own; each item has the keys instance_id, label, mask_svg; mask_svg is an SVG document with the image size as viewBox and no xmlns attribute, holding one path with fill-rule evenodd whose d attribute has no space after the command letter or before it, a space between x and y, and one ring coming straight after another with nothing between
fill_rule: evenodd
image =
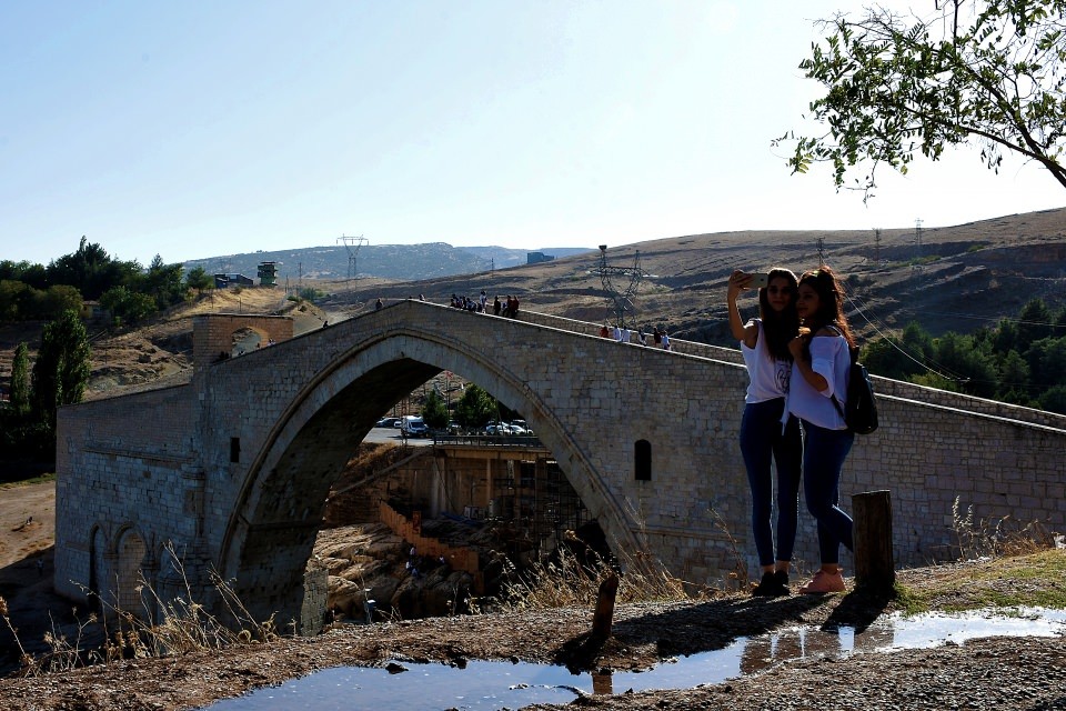
<instances>
[{"instance_id":1,"label":"large pointed arch of the stone bridge with shaded underside","mask_svg":"<svg viewBox=\"0 0 1066 711\"><path fill-rule=\"evenodd\" d=\"M521 411L553 452L614 550L633 551L633 522L559 413L499 354L457 334L400 326L352 342L292 399L252 459L222 541L223 574L238 592L272 610L292 609L331 484L389 407L450 370ZM628 444L632 447L632 443ZM254 612L254 610L253 610Z\"/></svg>"}]
</instances>

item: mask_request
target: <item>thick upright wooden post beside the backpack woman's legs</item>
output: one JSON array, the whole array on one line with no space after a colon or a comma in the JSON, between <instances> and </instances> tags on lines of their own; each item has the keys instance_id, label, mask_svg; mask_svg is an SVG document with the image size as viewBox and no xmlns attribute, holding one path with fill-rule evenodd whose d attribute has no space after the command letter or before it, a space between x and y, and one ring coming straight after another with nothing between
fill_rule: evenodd
<instances>
[{"instance_id":1,"label":"thick upright wooden post beside the backpack woman's legs","mask_svg":"<svg viewBox=\"0 0 1066 711\"><path fill-rule=\"evenodd\" d=\"M852 495L855 527L855 585L891 593L896 581L892 554L892 499L887 491Z\"/></svg>"}]
</instances>

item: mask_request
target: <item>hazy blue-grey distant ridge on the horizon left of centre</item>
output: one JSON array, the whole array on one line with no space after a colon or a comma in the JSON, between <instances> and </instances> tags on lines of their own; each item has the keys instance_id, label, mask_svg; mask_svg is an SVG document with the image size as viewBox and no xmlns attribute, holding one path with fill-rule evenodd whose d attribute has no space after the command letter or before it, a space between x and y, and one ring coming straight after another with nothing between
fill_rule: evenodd
<instances>
[{"instance_id":1,"label":"hazy blue-grey distant ridge on the horizon left of centre","mask_svg":"<svg viewBox=\"0 0 1066 711\"><path fill-rule=\"evenodd\" d=\"M507 249L504 247L452 247L445 242L423 244L364 244L358 250L343 244L291 250L258 251L193 259L187 270L202 267L208 273L239 273L254 278L261 262L278 262L278 280L345 279L353 276L398 281L440 279L525 264L530 252L562 259L593 251L589 248L556 247ZM353 274L352 271L356 273Z\"/></svg>"}]
</instances>

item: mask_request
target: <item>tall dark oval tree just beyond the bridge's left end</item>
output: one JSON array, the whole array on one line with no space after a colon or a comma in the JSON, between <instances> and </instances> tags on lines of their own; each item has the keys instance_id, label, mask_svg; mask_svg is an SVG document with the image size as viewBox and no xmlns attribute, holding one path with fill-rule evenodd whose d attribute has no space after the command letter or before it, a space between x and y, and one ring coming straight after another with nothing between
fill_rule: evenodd
<instances>
[{"instance_id":1,"label":"tall dark oval tree just beyond the bridge's left end","mask_svg":"<svg viewBox=\"0 0 1066 711\"><path fill-rule=\"evenodd\" d=\"M77 311L44 326L33 363L32 402L38 419L56 431L56 408L81 402L89 383L89 334Z\"/></svg>"}]
</instances>

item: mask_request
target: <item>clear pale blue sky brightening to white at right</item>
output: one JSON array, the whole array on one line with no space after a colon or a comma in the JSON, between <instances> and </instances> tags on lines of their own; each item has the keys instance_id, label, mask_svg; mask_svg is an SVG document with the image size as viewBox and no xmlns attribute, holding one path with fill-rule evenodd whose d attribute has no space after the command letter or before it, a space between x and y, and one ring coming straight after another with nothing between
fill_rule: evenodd
<instances>
[{"instance_id":1,"label":"clear pale blue sky brightening to white at right","mask_svg":"<svg viewBox=\"0 0 1066 711\"><path fill-rule=\"evenodd\" d=\"M891 0L927 13L933 0ZM852 0L0 6L0 259L84 234L147 264L443 241L595 247L726 230L926 228L1062 207L976 152L868 207L791 176L812 20Z\"/></svg>"}]
</instances>

